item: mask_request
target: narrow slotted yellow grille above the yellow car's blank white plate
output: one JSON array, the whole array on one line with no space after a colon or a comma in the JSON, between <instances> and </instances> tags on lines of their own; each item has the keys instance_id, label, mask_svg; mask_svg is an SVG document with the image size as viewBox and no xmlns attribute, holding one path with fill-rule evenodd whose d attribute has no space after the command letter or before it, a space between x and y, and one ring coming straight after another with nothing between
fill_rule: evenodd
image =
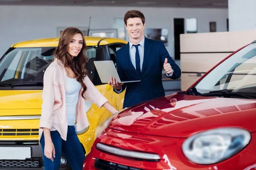
<instances>
[{"instance_id":1,"label":"narrow slotted yellow grille above the yellow car's blank white plate","mask_svg":"<svg viewBox=\"0 0 256 170\"><path fill-rule=\"evenodd\" d=\"M0 129L0 136L36 136L39 129Z\"/></svg>"}]
</instances>

